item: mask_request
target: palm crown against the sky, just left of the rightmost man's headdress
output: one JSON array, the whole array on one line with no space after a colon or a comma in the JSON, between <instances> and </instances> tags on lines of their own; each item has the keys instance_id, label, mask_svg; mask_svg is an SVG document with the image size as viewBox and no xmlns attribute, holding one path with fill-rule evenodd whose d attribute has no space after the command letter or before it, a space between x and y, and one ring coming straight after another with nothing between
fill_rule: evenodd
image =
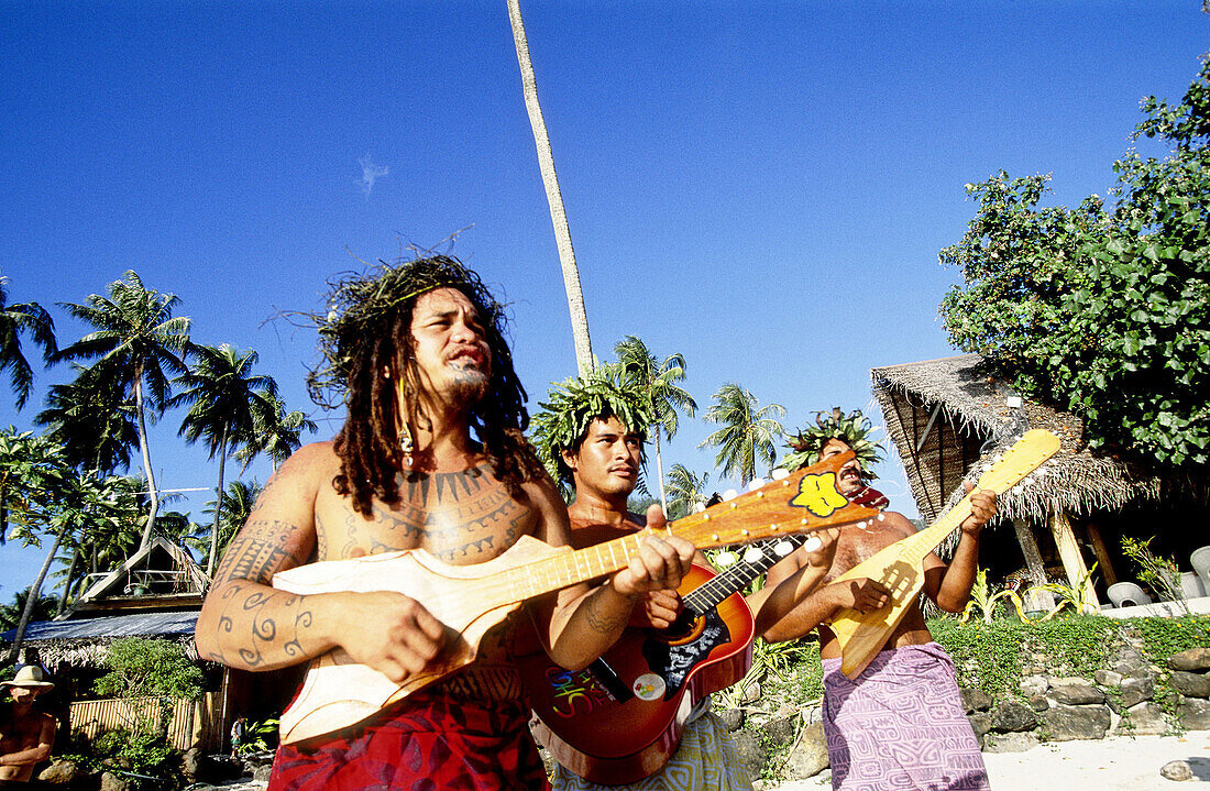
<instances>
[{"instance_id":1,"label":"palm crown against the sky, just left of the rightmost man's headdress","mask_svg":"<svg viewBox=\"0 0 1210 791\"><path fill-rule=\"evenodd\" d=\"M698 448L719 449L714 463L724 475L739 475L741 485L756 477L756 461L772 466L777 458L776 440L785 433L773 418L785 417L780 404L760 406L756 397L734 382L727 382L714 394L714 404L703 418L722 426Z\"/></svg>"}]
</instances>

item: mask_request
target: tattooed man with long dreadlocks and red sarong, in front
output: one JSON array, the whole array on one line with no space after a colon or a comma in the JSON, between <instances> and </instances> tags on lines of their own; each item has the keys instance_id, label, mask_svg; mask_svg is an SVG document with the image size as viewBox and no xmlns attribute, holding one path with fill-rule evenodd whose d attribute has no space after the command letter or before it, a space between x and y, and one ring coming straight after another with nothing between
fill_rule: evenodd
<instances>
[{"instance_id":1,"label":"tattooed man with long dreadlocks and red sarong, in front","mask_svg":"<svg viewBox=\"0 0 1210 791\"><path fill-rule=\"evenodd\" d=\"M446 256L382 266L336 283L329 308L317 317L324 362L309 385L317 398L344 393L344 427L270 479L223 558L196 642L203 658L252 671L339 648L402 683L448 645L422 602L394 591L290 595L270 587L273 573L415 548L480 564L526 535L566 545L567 514L522 434L525 391L502 308L474 272ZM684 539L650 538L603 584L518 612L531 613L552 659L583 668L617 640L639 597L679 584L692 553ZM544 787L513 664L525 631L517 619L484 637L473 664L378 717L282 746L270 787Z\"/></svg>"}]
</instances>

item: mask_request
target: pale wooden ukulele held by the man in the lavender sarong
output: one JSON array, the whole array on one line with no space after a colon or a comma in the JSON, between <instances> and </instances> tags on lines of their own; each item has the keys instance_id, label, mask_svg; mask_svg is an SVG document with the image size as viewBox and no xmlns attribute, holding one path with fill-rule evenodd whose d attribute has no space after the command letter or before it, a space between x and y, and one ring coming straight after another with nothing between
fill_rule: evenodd
<instances>
[{"instance_id":1,"label":"pale wooden ukulele held by the man in the lavender sarong","mask_svg":"<svg viewBox=\"0 0 1210 791\"><path fill-rule=\"evenodd\" d=\"M972 491L990 489L1003 495L1058 450L1059 438L1050 432L1026 432L979 478ZM924 584L924 558L969 515L970 495L967 495L930 527L885 547L832 581L869 578L891 589L891 604L886 607L868 613L846 608L832 616L830 627L843 654L841 671L846 676L857 679L878 653Z\"/></svg>"}]
</instances>

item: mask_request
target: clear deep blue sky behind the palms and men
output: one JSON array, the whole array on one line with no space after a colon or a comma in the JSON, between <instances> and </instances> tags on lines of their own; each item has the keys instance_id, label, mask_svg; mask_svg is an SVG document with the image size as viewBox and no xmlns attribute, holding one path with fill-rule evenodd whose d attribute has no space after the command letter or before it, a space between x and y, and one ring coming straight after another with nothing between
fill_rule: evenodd
<instances>
[{"instance_id":1,"label":"clear deep blue sky behind the palms and men","mask_svg":"<svg viewBox=\"0 0 1210 791\"><path fill-rule=\"evenodd\" d=\"M1007 169L1051 173L1051 203L1105 195L1140 99L1195 75L1199 8L523 2L594 351L634 334L682 353L703 410L736 381L788 427L834 405L881 426L870 368L955 353L937 306L957 273L937 253L974 214L963 185ZM358 259L457 233L512 304L531 410L575 373L505 0L6 0L0 68L0 271L60 343L85 328L54 304L134 269L196 341L257 350L311 410L313 334L267 319L318 308ZM0 425L31 427L67 376L39 370ZM330 437L338 418L312 416ZM180 417L154 429L160 483L213 486ZM666 468L713 472L709 431L684 420ZM878 472L915 515L898 464ZM175 507L200 520L213 495L190 497ZM38 556L0 548L0 599Z\"/></svg>"}]
</instances>

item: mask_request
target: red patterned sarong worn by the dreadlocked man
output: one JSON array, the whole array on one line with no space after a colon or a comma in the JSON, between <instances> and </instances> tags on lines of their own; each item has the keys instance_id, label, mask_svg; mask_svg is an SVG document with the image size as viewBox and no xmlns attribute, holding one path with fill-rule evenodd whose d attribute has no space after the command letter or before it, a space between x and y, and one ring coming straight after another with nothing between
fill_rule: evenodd
<instances>
[{"instance_id":1,"label":"red patterned sarong worn by the dreadlocked man","mask_svg":"<svg viewBox=\"0 0 1210 791\"><path fill-rule=\"evenodd\" d=\"M442 687L422 689L344 738L278 747L269 789L549 789L528 718L520 701L456 700Z\"/></svg>"}]
</instances>

